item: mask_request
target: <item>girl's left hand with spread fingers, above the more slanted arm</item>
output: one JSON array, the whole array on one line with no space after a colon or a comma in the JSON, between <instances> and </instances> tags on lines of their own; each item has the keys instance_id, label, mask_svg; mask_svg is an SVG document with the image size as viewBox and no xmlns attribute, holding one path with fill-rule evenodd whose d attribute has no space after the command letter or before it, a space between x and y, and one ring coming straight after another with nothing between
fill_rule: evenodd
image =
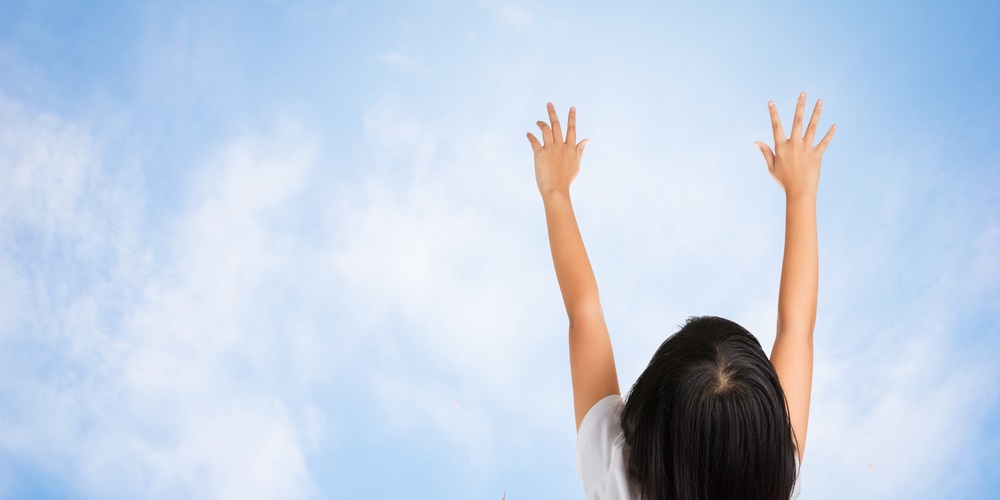
<instances>
[{"instance_id":1,"label":"girl's left hand with spread fingers, above the more slanted arm","mask_svg":"<svg viewBox=\"0 0 1000 500\"><path fill-rule=\"evenodd\" d=\"M556 108L551 102L548 103L548 109L552 126L549 127L544 121L538 122L545 145L539 143L538 139L528 132L528 142L531 143L531 150L535 152L535 182L538 183L538 191L542 194L551 191L568 193L570 183L580 172L583 149L587 147L590 139L584 139L576 144L576 108L569 108L565 140L562 128L559 126L559 117L556 116Z\"/></svg>"}]
</instances>

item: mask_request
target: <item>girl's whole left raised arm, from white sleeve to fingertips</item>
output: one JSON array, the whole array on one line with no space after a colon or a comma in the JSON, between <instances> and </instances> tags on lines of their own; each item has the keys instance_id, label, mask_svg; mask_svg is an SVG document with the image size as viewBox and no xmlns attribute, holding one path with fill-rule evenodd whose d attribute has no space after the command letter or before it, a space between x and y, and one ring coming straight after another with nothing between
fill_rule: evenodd
<instances>
[{"instance_id":1,"label":"girl's whole left raised arm, from white sleeve to fingertips","mask_svg":"<svg viewBox=\"0 0 1000 500\"><path fill-rule=\"evenodd\" d=\"M535 181L545 205L552 262L569 316L570 372L576 429L580 430L583 417L594 403L611 394L621 394L621 390L611 337L597 294L597 280L569 197L569 185L580 171L580 159L589 140L576 143L575 108L569 109L565 140L552 103L548 103L548 111L551 126L538 122L544 145L530 132L528 142L534 151Z\"/></svg>"}]
</instances>

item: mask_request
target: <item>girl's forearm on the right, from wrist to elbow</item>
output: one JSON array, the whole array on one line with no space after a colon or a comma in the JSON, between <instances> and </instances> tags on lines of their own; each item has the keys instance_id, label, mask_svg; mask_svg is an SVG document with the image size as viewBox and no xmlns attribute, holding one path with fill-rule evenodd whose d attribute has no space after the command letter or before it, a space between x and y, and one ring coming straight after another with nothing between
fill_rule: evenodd
<instances>
[{"instance_id":1,"label":"girl's forearm on the right, from wrist to elbow","mask_svg":"<svg viewBox=\"0 0 1000 500\"><path fill-rule=\"evenodd\" d=\"M785 201L785 255L778 292L778 335L807 335L816 324L819 249L816 196L789 196Z\"/></svg>"}]
</instances>

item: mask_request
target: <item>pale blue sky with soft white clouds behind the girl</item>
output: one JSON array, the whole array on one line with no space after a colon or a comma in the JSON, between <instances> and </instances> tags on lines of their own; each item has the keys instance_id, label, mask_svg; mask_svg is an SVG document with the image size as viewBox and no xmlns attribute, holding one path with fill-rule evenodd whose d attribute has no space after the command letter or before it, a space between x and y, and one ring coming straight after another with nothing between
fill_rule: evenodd
<instances>
[{"instance_id":1,"label":"pale blue sky with soft white clouds behind the girl","mask_svg":"<svg viewBox=\"0 0 1000 500\"><path fill-rule=\"evenodd\" d=\"M1000 488L995 2L0 1L0 497L583 498L526 132L623 390L774 341L823 99L803 499ZM789 127L786 125L786 130Z\"/></svg>"}]
</instances>

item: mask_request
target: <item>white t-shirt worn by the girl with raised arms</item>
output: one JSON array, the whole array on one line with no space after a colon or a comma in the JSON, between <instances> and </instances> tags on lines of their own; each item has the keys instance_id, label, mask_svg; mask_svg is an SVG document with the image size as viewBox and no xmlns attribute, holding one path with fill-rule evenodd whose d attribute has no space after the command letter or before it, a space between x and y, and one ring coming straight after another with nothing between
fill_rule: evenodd
<instances>
[{"instance_id":1,"label":"white t-shirt worn by the girl with raised arms","mask_svg":"<svg viewBox=\"0 0 1000 500\"><path fill-rule=\"evenodd\" d=\"M622 432L618 408L622 397L612 394L598 401L580 423L576 435L576 475L583 480L588 500L628 500L625 457L629 446ZM799 461L795 461L795 488L791 500L799 497Z\"/></svg>"}]
</instances>

